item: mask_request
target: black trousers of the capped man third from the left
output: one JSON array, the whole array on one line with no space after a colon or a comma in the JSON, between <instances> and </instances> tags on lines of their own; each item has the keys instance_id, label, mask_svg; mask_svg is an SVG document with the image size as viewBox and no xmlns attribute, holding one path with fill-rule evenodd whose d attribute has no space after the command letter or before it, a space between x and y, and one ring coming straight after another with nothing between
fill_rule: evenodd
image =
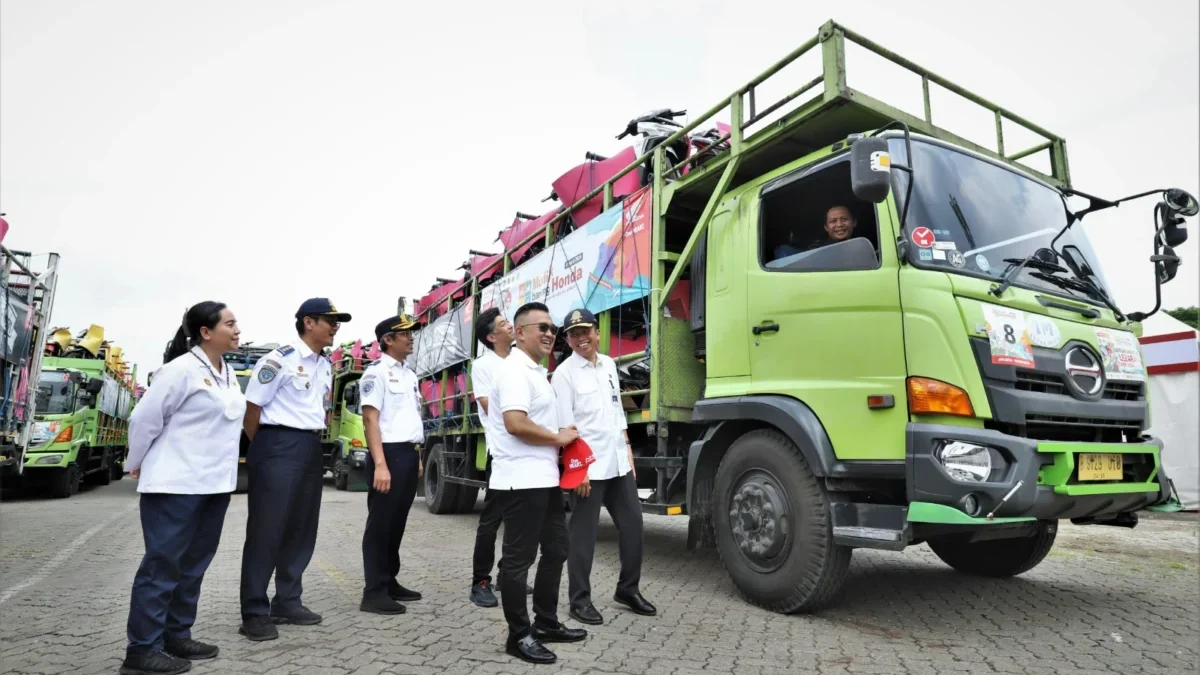
<instances>
[{"instance_id":1,"label":"black trousers of the capped man third from the left","mask_svg":"<svg viewBox=\"0 0 1200 675\"><path fill-rule=\"evenodd\" d=\"M374 489L374 458L367 455L367 525L362 532L364 598L384 598L400 573L400 544L408 525L408 512L416 497L416 470L420 454L413 443L384 443L383 459L391 473L391 489Z\"/></svg>"}]
</instances>

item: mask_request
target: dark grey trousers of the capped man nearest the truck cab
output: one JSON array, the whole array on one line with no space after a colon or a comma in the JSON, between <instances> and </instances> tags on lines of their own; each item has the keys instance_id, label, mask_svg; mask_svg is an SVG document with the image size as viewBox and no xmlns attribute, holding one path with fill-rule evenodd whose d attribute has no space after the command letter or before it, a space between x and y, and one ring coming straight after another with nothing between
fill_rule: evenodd
<instances>
[{"instance_id":1,"label":"dark grey trousers of the capped man nearest the truck cab","mask_svg":"<svg viewBox=\"0 0 1200 675\"><path fill-rule=\"evenodd\" d=\"M617 526L620 551L620 575L617 592L632 595L642 579L642 504L637 498L637 482L629 472L608 480L592 480L592 492L580 497L571 492L570 554L566 558L568 595L571 607L592 602L592 558L596 548L596 525L600 507L608 509Z\"/></svg>"}]
</instances>

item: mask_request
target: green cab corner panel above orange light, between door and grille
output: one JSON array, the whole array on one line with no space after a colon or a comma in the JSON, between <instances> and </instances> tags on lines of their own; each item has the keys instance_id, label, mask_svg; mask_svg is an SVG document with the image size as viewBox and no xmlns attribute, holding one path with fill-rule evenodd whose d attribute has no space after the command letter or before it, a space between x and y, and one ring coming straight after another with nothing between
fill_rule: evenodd
<instances>
[{"instance_id":1,"label":"green cab corner panel above orange light, between door and grille","mask_svg":"<svg viewBox=\"0 0 1200 675\"><path fill-rule=\"evenodd\" d=\"M990 419L991 406L971 344L962 333L962 315L949 275L905 265L900 270L900 295L908 375L964 389L976 416Z\"/></svg>"}]
</instances>

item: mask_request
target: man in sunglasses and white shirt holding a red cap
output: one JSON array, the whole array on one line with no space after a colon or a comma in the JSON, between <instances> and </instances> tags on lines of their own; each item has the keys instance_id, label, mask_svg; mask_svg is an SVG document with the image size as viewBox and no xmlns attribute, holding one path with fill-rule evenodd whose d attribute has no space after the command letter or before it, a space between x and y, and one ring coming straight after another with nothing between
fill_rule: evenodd
<instances>
[{"instance_id":1,"label":"man in sunglasses and white shirt holding a red cap","mask_svg":"<svg viewBox=\"0 0 1200 675\"><path fill-rule=\"evenodd\" d=\"M554 347L558 327L541 303L522 305L512 321L516 348L496 375L490 406L498 406L492 476L487 489L503 500L504 548L499 563L500 603L509 623L505 651L529 663L553 663L542 643L575 643L587 632L558 621L558 585L566 561L566 514L559 489L558 449L578 438L559 430L554 389L539 363ZM529 622L524 595L529 566L541 546Z\"/></svg>"}]
</instances>

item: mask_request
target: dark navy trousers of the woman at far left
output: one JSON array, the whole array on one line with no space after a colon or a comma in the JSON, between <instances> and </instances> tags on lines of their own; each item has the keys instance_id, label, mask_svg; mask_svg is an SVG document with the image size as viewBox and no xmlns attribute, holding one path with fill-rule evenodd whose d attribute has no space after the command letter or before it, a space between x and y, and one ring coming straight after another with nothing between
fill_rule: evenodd
<instances>
[{"instance_id":1,"label":"dark navy trousers of the woman at far left","mask_svg":"<svg viewBox=\"0 0 1200 675\"><path fill-rule=\"evenodd\" d=\"M144 492L142 538L146 552L133 578L128 651L163 649L164 638L192 637L200 583L221 542L229 494Z\"/></svg>"}]
</instances>

